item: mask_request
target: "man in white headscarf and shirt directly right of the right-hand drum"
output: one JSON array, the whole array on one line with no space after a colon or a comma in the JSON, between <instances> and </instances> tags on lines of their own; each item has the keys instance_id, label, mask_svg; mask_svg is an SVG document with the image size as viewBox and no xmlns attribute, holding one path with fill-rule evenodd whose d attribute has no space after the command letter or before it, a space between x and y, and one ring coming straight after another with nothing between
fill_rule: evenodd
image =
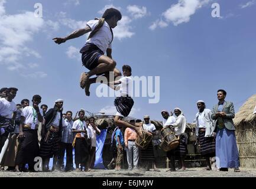
<instances>
[{"instance_id":1,"label":"man in white headscarf and shirt directly right of the right-hand drum","mask_svg":"<svg viewBox=\"0 0 256 189\"><path fill-rule=\"evenodd\" d=\"M174 109L174 114L177 116L176 122L172 123L170 126L174 128L175 134L180 137L180 145L171 151L169 155L171 157L171 168L170 171L176 171L175 169L175 154L179 154L180 162L182 165L182 170L186 170L184 157L187 153L187 137L185 133L186 129L186 118L179 107Z\"/></svg>"}]
</instances>

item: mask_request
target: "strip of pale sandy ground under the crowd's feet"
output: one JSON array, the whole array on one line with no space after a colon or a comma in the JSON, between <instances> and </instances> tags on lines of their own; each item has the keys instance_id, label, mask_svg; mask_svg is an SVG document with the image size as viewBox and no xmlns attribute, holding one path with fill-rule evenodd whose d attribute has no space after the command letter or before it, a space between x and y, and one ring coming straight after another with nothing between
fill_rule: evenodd
<instances>
[{"instance_id":1,"label":"strip of pale sandy ground under the crowd's feet","mask_svg":"<svg viewBox=\"0 0 256 189\"><path fill-rule=\"evenodd\" d=\"M0 177L256 177L256 169L243 169L241 172L234 172L230 169L223 171L205 171L203 168L188 168L185 171L166 172L160 169L160 172L152 171L115 171L115 170L92 170L89 172L11 172L1 171Z\"/></svg>"}]
</instances>

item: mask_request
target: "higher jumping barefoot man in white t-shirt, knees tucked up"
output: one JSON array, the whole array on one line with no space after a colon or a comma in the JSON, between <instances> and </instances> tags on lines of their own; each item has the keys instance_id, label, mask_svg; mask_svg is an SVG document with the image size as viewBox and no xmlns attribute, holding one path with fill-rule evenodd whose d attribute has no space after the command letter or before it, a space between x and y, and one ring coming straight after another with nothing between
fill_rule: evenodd
<instances>
[{"instance_id":1,"label":"higher jumping barefoot man in white t-shirt, knees tucked up","mask_svg":"<svg viewBox=\"0 0 256 189\"><path fill-rule=\"evenodd\" d=\"M92 31L86 44L80 50L83 66L90 70L87 73L82 73L80 78L80 87L85 89L86 96L90 96L90 84L96 83L97 77L89 79L91 76L104 74L103 76L109 80L110 71L114 71L115 77L121 76L121 72L115 68L116 62L111 55L111 43L114 38L112 28L115 28L121 19L121 12L115 8L109 8L106 9L101 19L90 20L86 23L85 28L75 30L64 38L53 38L55 43L61 44Z\"/></svg>"}]
</instances>

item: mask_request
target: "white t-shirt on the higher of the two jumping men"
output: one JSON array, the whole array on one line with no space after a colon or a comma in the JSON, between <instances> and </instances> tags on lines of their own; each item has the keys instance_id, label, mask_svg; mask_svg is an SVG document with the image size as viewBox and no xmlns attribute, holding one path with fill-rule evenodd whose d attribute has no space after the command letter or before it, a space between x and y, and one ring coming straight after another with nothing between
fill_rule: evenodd
<instances>
[{"instance_id":1,"label":"white t-shirt on the higher of the two jumping men","mask_svg":"<svg viewBox=\"0 0 256 189\"><path fill-rule=\"evenodd\" d=\"M98 20L90 20L86 24L90 27L90 29L93 31L98 24ZM103 51L103 53L106 53L107 48L111 47L112 42L112 32L111 28L109 27L108 23L105 21L102 27L93 35L92 38L89 38L89 40L86 41L86 43L92 43L95 44L99 49Z\"/></svg>"}]
</instances>

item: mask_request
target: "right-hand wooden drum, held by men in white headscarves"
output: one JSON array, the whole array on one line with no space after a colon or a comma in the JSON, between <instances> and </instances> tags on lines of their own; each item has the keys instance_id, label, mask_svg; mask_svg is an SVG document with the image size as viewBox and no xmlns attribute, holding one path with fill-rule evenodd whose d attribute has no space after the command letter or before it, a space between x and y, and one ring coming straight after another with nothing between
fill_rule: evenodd
<instances>
[{"instance_id":1,"label":"right-hand wooden drum, held by men in white headscarves","mask_svg":"<svg viewBox=\"0 0 256 189\"><path fill-rule=\"evenodd\" d=\"M166 144L163 143L162 146L164 149L169 149L169 151L170 151L171 149L175 149L175 148L177 148L177 146L179 146L180 138L179 138L179 136L175 135L175 133L171 130L170 127L166 126L163 129L161 129L161 135L163 136L164 141L169 146L168 148L164 147Z\"/></svg>"}]
</instances>

